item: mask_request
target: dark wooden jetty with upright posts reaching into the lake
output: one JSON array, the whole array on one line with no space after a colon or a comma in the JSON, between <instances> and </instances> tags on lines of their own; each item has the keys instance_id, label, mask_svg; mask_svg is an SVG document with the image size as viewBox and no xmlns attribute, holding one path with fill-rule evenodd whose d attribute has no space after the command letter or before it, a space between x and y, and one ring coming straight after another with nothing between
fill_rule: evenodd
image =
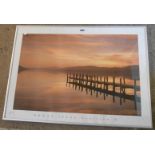
<instances>
[{"instance_id":1,"label":"dark wooden jetty with upright posts reaching into the lake","mask_svg":"<svg viewBox=\"0 0 155 155\"><path fill-rule=\"evenodd\" d=\"M75 89L79 88L81 91L85 89L86 94L90 92L90 95L93 95L93 92L95 92L96 97L101 94L104 95L104 98L111 95L113 96L113 101L115 101L115 96L119 97L120 104L122 103L122 99L124 102L125 99L140 102L140 97L137 96L137 91L140 91L140 86L137 85L137 80L133 80L133 85L131 85L126 84L125 77L119 78L119 82L116 82L116 77L112 77L112 80L109 80L108 76L67 73L66 83L72 85ZM116 88L119 88L119 92L116 91ZM127 89L132 89L133 94L127 94Z\"/></svg>"}]
</instances>

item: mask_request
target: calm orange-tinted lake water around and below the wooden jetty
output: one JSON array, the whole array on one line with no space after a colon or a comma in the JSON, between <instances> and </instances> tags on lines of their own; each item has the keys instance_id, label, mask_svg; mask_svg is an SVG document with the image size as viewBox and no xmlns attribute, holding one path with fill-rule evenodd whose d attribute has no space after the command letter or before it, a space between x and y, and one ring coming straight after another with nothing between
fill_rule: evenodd
<instances>
[{"instance_id":1,"label":"calm orange-tinted lake water around and below the wooden jetty","mask_svg":"<svg viewBox=\"0 0 155 155\"><path fill-rule=\"evenodd\" d=\"M126 82L131 84L132 80ZM133 94L133 91L128 89L126 93ZM116 96L114 99L111 95L67 84L66 73L34 70L18 73L14 109L112 115L140 115L141 111L139 101Z\"/></svg>"}]
</instances>

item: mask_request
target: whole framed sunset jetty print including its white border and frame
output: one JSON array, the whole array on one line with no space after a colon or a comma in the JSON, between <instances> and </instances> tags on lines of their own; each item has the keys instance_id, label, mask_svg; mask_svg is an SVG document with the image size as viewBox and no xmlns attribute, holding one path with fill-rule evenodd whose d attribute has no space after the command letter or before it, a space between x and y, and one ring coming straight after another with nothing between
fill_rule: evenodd
<instances>
[{"instance_id":1,"label":"whole framed sunset jetty print including its white border and frame","mask_svg":"<svg viewBox=\"0 0 155 155\"><path fill-rule=\"evenodd\" d=\"M4 120L152 127L143 26L17 26Z\"/></svg>"}]
</instances>

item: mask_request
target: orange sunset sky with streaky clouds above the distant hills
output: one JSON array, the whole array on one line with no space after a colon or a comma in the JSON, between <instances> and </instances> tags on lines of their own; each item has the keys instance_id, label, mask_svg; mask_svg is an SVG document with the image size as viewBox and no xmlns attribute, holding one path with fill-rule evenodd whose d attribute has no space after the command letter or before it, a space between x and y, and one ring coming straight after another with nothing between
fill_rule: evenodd
<instances>
[{"instance_id":1,"label":"orange sunset sky with streaky clouds above the distant hills","mask_svg":"<svg viewBox=\"0 0 155 155\"><path fill-rule=\"evenodd\" d=\"M20 65L28 68L138 64L136 35L24 35Z\"/></svg>"}]
</instances>

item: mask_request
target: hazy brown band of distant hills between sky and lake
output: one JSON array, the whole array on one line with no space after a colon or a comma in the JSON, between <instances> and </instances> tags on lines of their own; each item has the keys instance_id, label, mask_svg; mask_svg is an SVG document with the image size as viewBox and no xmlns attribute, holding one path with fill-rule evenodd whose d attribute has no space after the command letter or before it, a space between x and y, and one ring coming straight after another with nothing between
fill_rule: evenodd
<instances>
[{"instance_id":1,"label":"hazy brown band of distant hills between sky and lake","mask_svg":"<svg viewBox=\"0 0 155 155\"><path fill-rule=\"evenodd\" d=\"M24 70L46 71L46 72L74 72L84 74L96 74L106 76L125 76L127 78L139 79L139 67L137 65L127 67L96 67L96 66L75 66L65 68L25 68L19 66L19 72Z\"/></svg>"}]
</instances>

